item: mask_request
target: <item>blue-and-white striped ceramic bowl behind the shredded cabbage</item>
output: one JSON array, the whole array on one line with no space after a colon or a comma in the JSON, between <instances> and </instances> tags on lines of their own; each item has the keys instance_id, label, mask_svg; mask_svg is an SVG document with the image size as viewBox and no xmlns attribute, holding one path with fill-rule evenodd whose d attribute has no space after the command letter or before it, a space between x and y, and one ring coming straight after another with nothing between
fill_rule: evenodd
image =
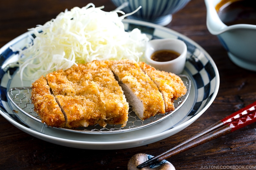
<instances>
[{"instance_id":1,"label":"blue-and-white striped ceramic bowl behind the shredded cabbage","mask_svg":"<svg viewBox=\"0 0 256 170\"><path fill-rule=\"evenodd\" d=\"M130 13L139 6L142 8L128 18L143 20L159 25L167 25L172 21L172 14L182 9L190 0L111 0L116 7L127 3L122 11Z\"/></svg>"}]
</instances>

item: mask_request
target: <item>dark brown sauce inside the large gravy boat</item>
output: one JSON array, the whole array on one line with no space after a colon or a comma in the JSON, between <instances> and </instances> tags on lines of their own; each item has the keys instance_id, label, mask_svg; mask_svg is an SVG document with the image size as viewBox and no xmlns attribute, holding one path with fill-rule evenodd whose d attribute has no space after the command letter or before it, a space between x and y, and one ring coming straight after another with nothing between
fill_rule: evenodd
<instances>
[{"instance_id":1,"label":"dark brown sauce inside the large gravy boat","mask_svg":"<svg viewBox=\"0 0 256 170\"><path fill-rule=\"evenodd\" d=\"M253 0L222 0L215 6L221 21L227 26L256 25L256 5Z\"/></svg>"}]
</instances>

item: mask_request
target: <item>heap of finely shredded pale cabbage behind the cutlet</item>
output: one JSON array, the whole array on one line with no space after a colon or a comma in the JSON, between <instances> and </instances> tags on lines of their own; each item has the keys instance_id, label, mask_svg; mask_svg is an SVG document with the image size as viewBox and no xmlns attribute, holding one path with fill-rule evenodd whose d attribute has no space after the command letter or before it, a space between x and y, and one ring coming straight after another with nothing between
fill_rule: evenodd
<instances>
[{"instance_id":1,"label":"heap of finely shredded pale cabbage behind the cutlet","mask_svg":"<svg viewBox=\"0 0 256 170\"><path fill-rule=\"evenodd\" d=\"M29 29L35 38L19 51L20 78L35 80L49 72L68 69L76 63L93 60L131 59L142 61L148 42L135 28L124 30L122 11L106 12L90 3L61 12L44 25Z\"/></svg>"}]
</instances>

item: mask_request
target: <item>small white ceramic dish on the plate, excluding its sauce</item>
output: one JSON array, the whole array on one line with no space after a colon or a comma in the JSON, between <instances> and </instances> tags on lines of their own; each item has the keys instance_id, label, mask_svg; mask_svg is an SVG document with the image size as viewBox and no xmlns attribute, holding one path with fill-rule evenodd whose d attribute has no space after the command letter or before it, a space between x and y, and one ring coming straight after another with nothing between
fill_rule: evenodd
<instances>
[{"instance_id":1,"label":"small white ceramic dish on the plate, excluding its sauce","mask_svg":"<svg viewBox=\"0 0 256 170\"><path fill-rule=\"evenodd\" d=\"M151 55L159 50L173 50L180 54L179 57L166 62L157 62L151 59ZM167 71L174 74L181 74L184 70L187 56L187 45L185 42L174 39L154 39L148 41L147 48L145 51L145 58L151 66L157 70Z\"/></svg>"}]
</instances>

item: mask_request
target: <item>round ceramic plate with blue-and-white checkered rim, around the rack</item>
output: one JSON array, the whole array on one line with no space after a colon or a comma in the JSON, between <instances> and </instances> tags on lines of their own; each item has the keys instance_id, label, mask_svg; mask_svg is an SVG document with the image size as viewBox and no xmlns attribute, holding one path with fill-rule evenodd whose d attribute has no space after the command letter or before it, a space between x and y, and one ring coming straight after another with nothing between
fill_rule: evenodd
<instances>
[{"instance_id":1,"label":"round ceramic plate with blue-and-white checkered rim, around the rack","mask_svg":"<svg viewBox=\"0 0 256 170\"><path fill-rule=\"evenodd\" d=\"M22 129L23 131L40 139L55 144L83 149L106 149L106 146L108 146L108 149L123 149L129 147L136 147L156 142L165 137L171 136L190 125L211 105L219 89L219 73L212 58L207 54L207 52L204 51L203 48L197 45L194 41L190 40L189 38L178 32L170 30L169 28L130 19L124 19L123 22L126 31L132 30L133 28L139 28L142 33L146 33L148 35L149 39L178 38L183 40L187 44L188 54L184 73L192 79L195 88L195 94L193 95L195 97L193 96L191 98L192 100L194 100L190 101L192 103L188 103L189 106L191 105L191 108L184 108L184 110L186 111L185 116L179 122L170 126L164 125L164 128L166 126L168 128L160 132L158 132L159 130L157 130L158 134L153 133L154 135L144 135L144 130L138 130L138 132L136 133L141 133L144 136L131 138L131 136L134 136L135 134L132 133L131 135L131 133L127 133L126 135L124 133L123 135L125 135L125 139L121 138L121 140L117 140L114 138L110 139L109 137L106 138L107 142L99 141L94 137L89 137L85 140L79 135L71 135L72 137L66 138L62 135L56 135L56 131L49 132L49 129L46 129L46 131L39 131L36 130L36 127L31 127L30 125L23 123L23 121L20 121L19 118L15 116L15 114L11 113L12 110L10 110L9 108L9 103L6 97L7 90L10 86L7 72L9 72L9 74L13 74L16 69L6 69L4 67L6 66L6 63L10 63L9 60L13 57L13 55L16 55L16 53L12 52L9 46L15 45L18 47L22 47L22 44L29 42L30 39L28 38L27 33L20 35L19 37L10 41L0 49L0 114L3 115L9 122L14 124L19 129ZM9 110L9 113L7 110ZM158 125L156 127L158 127Z\"/></svg>"}]
</instances>

